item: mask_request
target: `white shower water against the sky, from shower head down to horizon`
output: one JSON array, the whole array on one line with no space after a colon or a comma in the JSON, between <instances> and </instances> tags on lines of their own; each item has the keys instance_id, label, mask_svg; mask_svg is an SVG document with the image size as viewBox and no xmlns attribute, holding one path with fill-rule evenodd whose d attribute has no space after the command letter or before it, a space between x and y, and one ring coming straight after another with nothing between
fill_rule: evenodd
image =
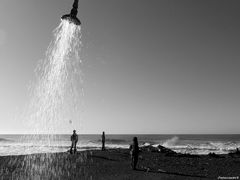
<instances>
[{"instance_id":1,"label":"white shower water against the sky, from shower head down to horizon","mask_svg":"<svg viewBox=\"0 0 240 180\"><path fill-rule=\"evenodd\" d=\"M76 119L81 86L81 27L62 21L55 29L46 58L36 68L30 121L35 133L55 134ZM65 124L66 126L66 124Z\"/></svg>"}]
</instances>

